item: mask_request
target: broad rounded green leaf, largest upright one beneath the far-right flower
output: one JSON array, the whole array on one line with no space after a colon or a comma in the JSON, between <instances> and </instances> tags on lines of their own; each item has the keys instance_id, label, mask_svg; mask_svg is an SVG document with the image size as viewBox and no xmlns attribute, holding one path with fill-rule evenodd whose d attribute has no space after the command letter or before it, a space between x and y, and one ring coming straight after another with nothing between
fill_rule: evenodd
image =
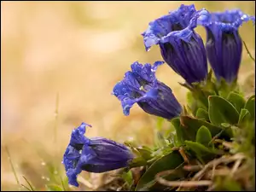
<instances>
[{"instance_id":1,"label":"broad rounded green leaf, largest upright one beneath the far-right flower","mask_svg":"<svg viewBox=\"0 0 256 192\"><path fill-rule=\"evenodd\" d=\"M229 123L236 125L239 119L239 113L236 108L227 100L220 96L209 96L209 119L214 125Z\"/></svg>"}]
</instances>

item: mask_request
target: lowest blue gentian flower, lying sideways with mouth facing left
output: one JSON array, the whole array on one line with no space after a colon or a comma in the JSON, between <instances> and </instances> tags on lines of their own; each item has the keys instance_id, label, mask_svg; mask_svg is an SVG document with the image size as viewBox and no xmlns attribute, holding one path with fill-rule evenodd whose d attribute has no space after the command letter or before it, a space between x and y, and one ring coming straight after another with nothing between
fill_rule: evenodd
<instances>
[{"instance_id":1,"label":"lowest blue gentian flower, lying sideways with mouth facing left","mask_svg":"<svg viewBox=\"0 0 256 192\"><path fill-rule=\"evenodd\" d=\"M63 156L68 183L79 186L77 175L87 172L108 172L129 166L133 159L131 151L120 143L103 137L84 137L85 127L82 123L71 134L70 143Z\"/></svg>"}]
</instances>

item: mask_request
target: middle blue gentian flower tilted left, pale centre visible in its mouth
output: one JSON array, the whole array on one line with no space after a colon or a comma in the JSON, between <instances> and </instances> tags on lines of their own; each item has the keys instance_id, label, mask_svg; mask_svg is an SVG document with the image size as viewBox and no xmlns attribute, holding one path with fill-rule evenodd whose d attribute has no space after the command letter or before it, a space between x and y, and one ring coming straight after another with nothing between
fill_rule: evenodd
<instances>
[{"instance_id":1,"label":"middle blue gentian flower tilted left, pale centre visible in its mouth","mask_svg":"<svg viewBox=\"0 0 256 192\"><path fill-rule=\"evenodd\" d=\"M113 88L113 95L122 104L123 112L129 115L130 108L137 102L146 113L172 119L181 113L181 106L172 90L155 77L155 71L164 61L142 65L137 61L131 64L131 71L125 73L122 81Z\"/></svg>"}]
</instances>

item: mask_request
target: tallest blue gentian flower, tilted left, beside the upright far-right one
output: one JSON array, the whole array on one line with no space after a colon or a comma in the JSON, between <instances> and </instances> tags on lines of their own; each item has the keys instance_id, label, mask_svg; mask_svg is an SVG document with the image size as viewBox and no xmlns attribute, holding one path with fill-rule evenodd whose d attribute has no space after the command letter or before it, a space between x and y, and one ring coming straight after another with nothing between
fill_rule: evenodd
<instances>
[{"instance_id":1,"label":"tallest blue gentian flower, tilted left, beside the upright far-right one","mask_svg":"<svg viewBox=\"0 0 256 192\"><path fill-rule=\"evenodd\" d=\"M197 19L204 20L207 15L206 9L196 11L194 4L182 4L169 15L151 21L142 34L146 50L159 44L163 59L189 84L207 77L206 49L194 31Z\"/></svg>"}]
</instances>

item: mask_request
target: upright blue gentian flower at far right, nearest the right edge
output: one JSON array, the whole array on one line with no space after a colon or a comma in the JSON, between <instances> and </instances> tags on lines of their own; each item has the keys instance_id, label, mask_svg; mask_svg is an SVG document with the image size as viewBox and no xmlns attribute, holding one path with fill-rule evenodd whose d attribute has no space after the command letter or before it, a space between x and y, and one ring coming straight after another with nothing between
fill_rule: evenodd
<instances>
[{"instance_id":1,"label":"upright blue gentian flower at far right, nearest the right edge","mask_svg":"<svg viewBox=\"0 0 256 192\"><path fill-rule=\"evenodd\" d=\"M207 30L207 57L216 78L227 82L236 80L241 63L242 42L238 32L244 21L255 20L239 9L211 13L200 20Z\"/></svg>"}]
</instances>

